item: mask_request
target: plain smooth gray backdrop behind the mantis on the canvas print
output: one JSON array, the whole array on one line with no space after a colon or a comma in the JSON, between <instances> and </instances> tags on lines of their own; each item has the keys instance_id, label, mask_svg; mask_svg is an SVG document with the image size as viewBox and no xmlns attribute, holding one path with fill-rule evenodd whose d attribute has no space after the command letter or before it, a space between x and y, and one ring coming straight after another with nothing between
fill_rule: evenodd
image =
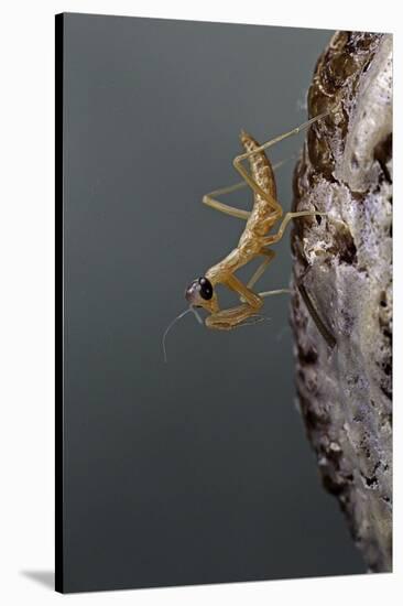
<instances>
[{"instance_id":1,"label":"plain smooth gray backdrop behind the mantis on the canvas print","mask_svg":"<svg viewBox=\"0 0 403 606\"><path fill-rule=\"evenodd\" d=\"M230 333L186 316L167 365L161 349L242 229L203 194L237 181L240 128L264 141L305 120L330 35L65 15L66 591L364 571L295 408L287 297ZM287 285L288 246L261 289Z\"/></svg>"}]
</instances>

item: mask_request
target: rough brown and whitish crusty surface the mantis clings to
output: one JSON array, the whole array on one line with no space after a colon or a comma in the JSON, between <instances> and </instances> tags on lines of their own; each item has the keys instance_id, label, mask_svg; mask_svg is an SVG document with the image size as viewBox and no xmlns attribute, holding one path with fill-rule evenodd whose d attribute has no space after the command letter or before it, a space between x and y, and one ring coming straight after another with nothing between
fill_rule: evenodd
<instances>
[{"instance_id":1,"label":"rough brown and whitish crusty surface the mantis clings to","mask_svg":"<svg viewBox=\"0 0 403 606\"><path fill-rule=\"evenodd\" d=\"M297 393L325 486L370 571L392 566L392 36L337 32L319 58L296 166ZM335 339L308 312L303 284Z\"/></svg>"}]
</instances>

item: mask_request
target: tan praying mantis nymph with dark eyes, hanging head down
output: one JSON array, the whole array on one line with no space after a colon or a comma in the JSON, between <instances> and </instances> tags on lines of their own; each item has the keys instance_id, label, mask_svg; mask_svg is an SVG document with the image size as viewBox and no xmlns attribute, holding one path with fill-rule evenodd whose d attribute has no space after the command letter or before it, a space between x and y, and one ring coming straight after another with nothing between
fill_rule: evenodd
<instances>
[{"instance_id":1,"label":"tan praying mantis nymph with dark eyes, hanging head down","mask_svg":"<svg viewBox=\"0 0 403 606\"><path fill-rule=\"evenodd\" d=\"M301 210L298 213L286 213L283 217L283 208L276 197L273 166L264 150L293 134L297 134L311 125L328 116L328 113L329 111L320 113L307 122L263 144L259 144L250 134L243 130L241 131L240 140L244 148L244 153L237 155L232 163L243 181L236 185L206 194L203 197L203 202L216 210L246 220L246 227L237 247L221 261L210 267L204 275L197 278L187 286L185 297L189 304L189 309L177 316L165 331L163 337L164 355L164 340L168 329L171 329L174 322L183 317L188 311L193 311L198 316L197 312L195 312L195 307L203 307L209 314L205 320L205 325L208 328L230 331L237 326L244 325L246 321L249 318L258 317L258 312L263 306L264 297L290 292L287 289L280 289L276 291L257 293L252 288L262 277L269 263L274 259L275 252L271 250L270 247L281 240L288 223L292 219L302 217L324 216L326 213L320 213L318 210ZM249 160L250 173L242 165L244 160ZM244 185L249 185L253 192L254 201L251 210L228 206L214 197L229 194ZM277 232L269 234L271 228L281 218L283 218L283 220L280 224ZM261 264L250 278L249 282L243 284L239 278L235 275L235 272L259 257L263 258ZM231 291L235 291L239 295L241 304L236 307L220 310L216 292L217 284L222 284ZM202 322L199 316L198 320Z\"/></svg>"}]
</instances>

